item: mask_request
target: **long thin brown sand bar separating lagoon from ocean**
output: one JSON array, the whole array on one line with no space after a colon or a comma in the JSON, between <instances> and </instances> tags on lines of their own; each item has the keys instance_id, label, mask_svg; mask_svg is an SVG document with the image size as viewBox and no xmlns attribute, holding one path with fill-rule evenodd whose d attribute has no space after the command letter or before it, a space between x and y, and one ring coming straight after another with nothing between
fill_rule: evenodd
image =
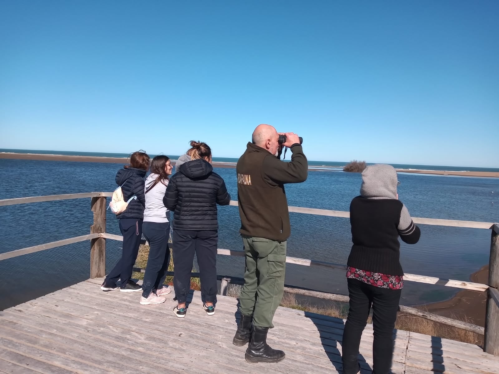
<instances>
[{"instance_id":1,"label":"long thin brown sand bar separating lagoon from ocean","mask_svg":"<svg viewBox=\"0 0 499 374\"><path fill-rule=\"evenodd\" d=\"M94 156L67 156L67 155L43 155L34 153L8 153L0 152L0 159L15 159L15 160L44 160L44 161L77 161L77 162L90 162L90 163L109 163L109 164L126 164L127 158L120 157L94 157ZM172 160L175 164L176 160ZM214 161L213 165L217 168L235 168L236 163L230 162L217 162ZM314 171L328 171L328 170L341 170L341 167L319 167L310 166L310 170ZM494 177L499 178L499 173L495 172L454 172L443 170L416 170L416 169L396 169L399 173L415 173L415 174L432 174L442 176L462 176L462 177Z\"/></svg>"}]
</instances>

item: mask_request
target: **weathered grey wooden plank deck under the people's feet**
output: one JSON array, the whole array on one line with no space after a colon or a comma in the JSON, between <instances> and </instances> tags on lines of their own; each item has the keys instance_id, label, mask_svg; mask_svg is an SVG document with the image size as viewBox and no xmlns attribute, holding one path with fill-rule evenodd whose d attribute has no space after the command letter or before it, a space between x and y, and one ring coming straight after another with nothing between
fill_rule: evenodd
<instances>
[{"instance_id":1,"label":"weathered grey wooden plank deck under the people's feet","mask_svg":"<svg viewBox=\"0 0 499 374\"><path fill-rule=\"evenodd\" d=\"M219 296L207 316L194 292L187 316L173 315L173 293L142 306L140 293L102 292L85 282L0 312L0 373L341 373L340 319L279 307L268 343L278 364L249 364L236 347L237 300ZM499 374L481 348L395 331L394 374ZM372 368L372 327L361 342L362 373Z\"/></svg>"}]
</instances>

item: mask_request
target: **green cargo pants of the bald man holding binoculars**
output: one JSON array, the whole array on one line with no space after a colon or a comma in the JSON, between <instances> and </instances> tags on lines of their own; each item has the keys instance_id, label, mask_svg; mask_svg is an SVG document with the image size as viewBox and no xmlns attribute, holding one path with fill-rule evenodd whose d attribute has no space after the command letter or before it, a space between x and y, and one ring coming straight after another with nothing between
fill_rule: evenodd
<instances>
[{"instance_id":1,"label":"green cargo pants of the bald man holding binoculars","mask_svg":"<svg viewBox=\"0 0 499 374\"><path fill-rule=\"evenodd\" d=\"M243 236L245 285L239 296L241 313L253 315L253 326L274 327L272 318L284 291L286 242Z\"/></svg>"}]
</instances>

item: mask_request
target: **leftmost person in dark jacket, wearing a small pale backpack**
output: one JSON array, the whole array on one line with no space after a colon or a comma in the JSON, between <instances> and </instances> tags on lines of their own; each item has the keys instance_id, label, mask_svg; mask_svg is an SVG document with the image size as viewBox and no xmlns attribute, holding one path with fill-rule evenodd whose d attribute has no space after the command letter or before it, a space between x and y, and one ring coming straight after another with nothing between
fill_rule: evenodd
<instances>
[{"instance_id":1,"label":"leftmost person in dark jacket, wearing a small pale backpack","mask_svg":"<svg viewBox=\"0 0 499 374\"><path fill-rule=\"evenodd\" d=\"M144 152L135 152L130 156L130 165L125 165L116 174L116 184L121 186L123 199L129 203L124 212L116 217L120 220L120 231L123 235L123 249L121 258L114 269L107 275L100 286L102 291L115 290L116 282L121 279L120 291L142 291L142 287L130 280L133 264L139 252L140 238L142 237L142 222L146 198L144 193L144 177L149 170L149 156Z\"/></svg>"}]
</instances>

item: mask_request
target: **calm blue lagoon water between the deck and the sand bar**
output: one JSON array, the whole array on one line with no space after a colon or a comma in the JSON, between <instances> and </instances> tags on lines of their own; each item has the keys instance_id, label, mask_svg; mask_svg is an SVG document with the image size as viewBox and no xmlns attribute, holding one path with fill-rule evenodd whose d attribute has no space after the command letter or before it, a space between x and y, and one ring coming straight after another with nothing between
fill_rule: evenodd
<instances>
[{"instance_id":1,"label":"calm blue lagoon water between the deck and the sand bar","mask_svg":"<svg viewBox=\"0 0 499 374\"><path fill-rule=\"evenodd\" d=\"M118 164L2 160L0 198L112 191ZM216 169L237 199L235 169ZM499 179L399 174L400 199L416 217L499 221ZM290 205L348 210L358 194L360 175L310 171L305 183L287 185ZM494 193L493 193L494 191ZM493 204L494 202L494 204ZM237 207L220 210L220 248L242 249ZM0 207L0 252L89 233L90 199L39 202ZM290 256L345 263L351 246L347 219L291 213ZM119 234L108 212L107 231ZM402 243L405 272L453 279L469 279L489 261L489 230L421 227L418 244ZM0 261L0 309L32 299L89 276L89 242ZM120 243L107 241L107 269L118 260ZM242 258L218 257L218 273L242 276ZM346 293L343 271L287 266L286 283ZM404 304L443 300L455 290L407 282Z\"/></svg>"}]
</instances>

